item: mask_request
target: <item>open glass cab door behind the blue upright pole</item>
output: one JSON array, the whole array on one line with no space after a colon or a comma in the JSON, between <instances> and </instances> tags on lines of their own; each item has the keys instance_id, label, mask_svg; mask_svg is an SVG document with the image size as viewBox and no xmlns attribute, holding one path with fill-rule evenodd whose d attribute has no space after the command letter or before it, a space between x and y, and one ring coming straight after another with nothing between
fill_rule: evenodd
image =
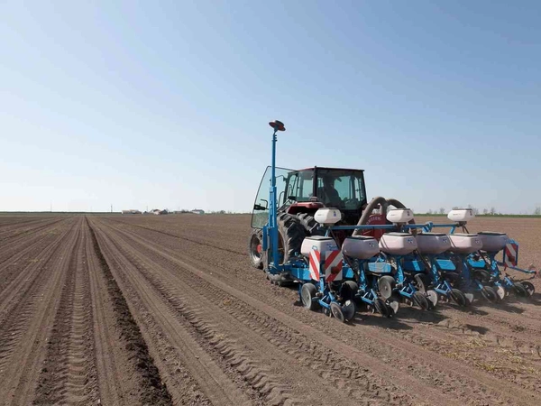
<instances>
[{"instance_id":1,"label":"open glass cab door behind the blue upright pole","mask_svg":"<svg viewBox=\"0 0 541 406\"><path fill-rule=\"evenodd\" d=\"M286 184L289 179L289 172L291 170L284 168L276 168L276 200L278 208L282 206L286 201ZM253 203L252 211L252 228L263 228L269 222L269 209L271 208L271 202L269 201L269 195L271 190L271 176L272 170L268 166L267 170L261 178L260 187Z\"/></svg>"}]
</instances>

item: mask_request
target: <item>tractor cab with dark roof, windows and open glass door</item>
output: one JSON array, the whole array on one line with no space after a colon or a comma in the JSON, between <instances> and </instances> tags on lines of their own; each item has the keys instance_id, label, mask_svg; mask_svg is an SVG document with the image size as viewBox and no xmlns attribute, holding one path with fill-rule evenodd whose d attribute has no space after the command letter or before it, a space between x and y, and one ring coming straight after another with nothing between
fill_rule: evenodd
<instances>
[{"instance_id":1,"label":"tractor cab with dark roof, windows and open glass door","mask_svg":"<svg viewBox=\"0 0 541 406\"><path fill-rule=\"evenodd\" d=\"M255 198L252 227L268 222L271 167L267 168ZM366 206L364 171L339 168L309 168L292 171L276 168L278 213L313 216L318 208L339 208L346 225L356 225Z\"/></svg>"}]
</instances>

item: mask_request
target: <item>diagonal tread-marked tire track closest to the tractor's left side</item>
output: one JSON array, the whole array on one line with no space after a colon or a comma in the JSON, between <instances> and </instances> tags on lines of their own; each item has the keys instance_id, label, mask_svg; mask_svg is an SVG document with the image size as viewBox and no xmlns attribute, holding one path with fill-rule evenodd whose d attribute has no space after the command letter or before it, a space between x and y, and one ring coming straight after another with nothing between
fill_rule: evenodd
<instances>
[{"instance_id":1,"label":"diagonal tread-marked tire track closest to the tractor's left side","mask_svg":"<svg viewBox=\"0 0 541 406\"><path fill-rule=\"evenodd\" d=\"M116 231L126 235L124 231ZM189 291L197 291L210 302L222 303L223 306L220 305L222 309L253 331L257 331L280 351L291 355L299 364L317 371L320 378L327 383L343 388L348 393L349 399L364 401L366 402L364 404L421 404L445 399L446 404L459 404L453 397L446 397L445 393L426 387L424 383L419 383L408 375L397 374L394 368L382 364L380 360L365 355L354 347L344 346L343 343L318 332L314 334L315 330L307 326L298 328L300 323L297 320L275 309L271 312L280 314L280 317L269 317L264 310L258 311L261 307L269 308L268 306L261 306L257 300L248 303L248 300L239 299L239 294L234 288L216 283L213 278L206 278L204 272L181 263L169 254L157 250L153 245L151 247L149 242L142 241L137 236L126 236L131 240L130 245L137 246L137 252L144 253L148 258L156 258L159 262L169 263L167 269L171 270L172 275L177 275L179 286L186 284ZM118 241L118 238L115 236L114 240ZM243 294L240 293L240 296ZM284 320L287 321L284 323ZM303 331L305 328L307 332ZM341 351L336 351L337 347ZM344 356L345 354L348 356ZM412 398L415 398L415 401Z\"/></svg>"}]
</instances>

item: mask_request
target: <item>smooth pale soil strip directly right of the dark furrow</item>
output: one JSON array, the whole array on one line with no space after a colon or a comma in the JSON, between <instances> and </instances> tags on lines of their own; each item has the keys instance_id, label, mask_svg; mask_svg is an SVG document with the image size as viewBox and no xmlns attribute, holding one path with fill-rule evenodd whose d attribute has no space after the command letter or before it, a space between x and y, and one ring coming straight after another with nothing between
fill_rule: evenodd
<instances>
[{"instance_id":1,"label":"smooth pale soil strip directly right of the dark furrow","mask_svg":"<svg viewBox=\"0 0 541 406\"><path fill-rule=\"evenodd\" d=\"M114 241L103 231L100 231L98 237L103 240L105 255L114 264L115 272L119 272L119 280L123 281L125 286L124 291L132 291L130 300L142 315L142 326L147 327L150 342L157 343L152 349L157 354L160 371L167 377L174 401L184 404L195 399L197 404L223 406L252 404L252 401L230 382L210 355L190 337L188 331L179 326L177 315L171 313L170 309L163 306L151 293L148 282L138 281L129 261L115 249ZM180 380L178 369L182 375ZM185 380L191 388L188 393L183 388Z\"/></svg>"}]
</instances>

